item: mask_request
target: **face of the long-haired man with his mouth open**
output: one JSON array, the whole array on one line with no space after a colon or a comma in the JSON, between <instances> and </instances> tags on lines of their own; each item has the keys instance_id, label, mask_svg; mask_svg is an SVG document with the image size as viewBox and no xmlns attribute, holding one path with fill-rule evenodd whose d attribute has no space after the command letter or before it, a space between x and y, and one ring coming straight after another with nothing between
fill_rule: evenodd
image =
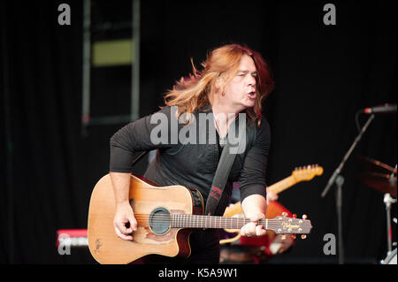
<instances>
[{"instance_id":1,"label":"face of the long-haired man with his mouth open","mask_svg":"<svg viewBox=\"0 0 398 282\"><path fill-rule=\"evenodd\" d=\"M251 57L243 55L238 71L226 84L225 98L233 108L243 111L256 102L256 65Z\"/></svg>"}]
</instances>

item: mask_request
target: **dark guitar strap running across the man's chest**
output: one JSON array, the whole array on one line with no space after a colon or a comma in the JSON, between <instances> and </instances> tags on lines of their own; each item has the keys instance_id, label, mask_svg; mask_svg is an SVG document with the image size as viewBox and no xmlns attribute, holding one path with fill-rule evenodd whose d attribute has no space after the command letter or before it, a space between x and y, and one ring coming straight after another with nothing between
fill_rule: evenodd
<instances>
[{"instance_id":1,"label":"dark guitar strap running across the man's chest","mask_svg":"<svg viewBox=\"0 0 398 282\"><path fill-rule=\"evenodd\" d=\"M235 123L231 126L235 126L238 133L238 149L236 150L232 148L232 144L229 141L229 138L226 138L226 145L221 153L221 156L218 161L218 166L216 173L214 175L213 182L211 184L211 189L209 192L209 196L207 197L206 201L206 208L205 208L205 215L208 216L222 216L222 211L219 210L219 202L223 197L225 199L226 194L224 192L224 188L226 187L226 182L228 180L229 173L233 166L233 162L235 161L235 157L237 153L242 152L243 146L245 146L246 142L243 141L243 138L246 138L245 133L242 132L241 126L236 125ZM236 132L236 131L235 131ZM235 145L236 146L236 145Z\"/></svg>"}]
</instances>

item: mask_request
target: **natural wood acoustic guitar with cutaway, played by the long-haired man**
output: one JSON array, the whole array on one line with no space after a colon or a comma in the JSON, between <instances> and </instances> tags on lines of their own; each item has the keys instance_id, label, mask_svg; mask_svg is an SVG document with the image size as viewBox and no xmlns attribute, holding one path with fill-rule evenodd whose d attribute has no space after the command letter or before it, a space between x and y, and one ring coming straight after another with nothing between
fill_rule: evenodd
<instances>
[{"instance_id":1,"label":"natural wood acoustic guitar with cutaway, played by the long-haired man","mask_svg":"<svg viewBox=\"0 0 398 282\"><path fill-rule=\"evenodd\" d=\"M203 216L203 197L196 189L158 187L132 175L130 204L137 220L133 240L120 239L113 227L115 198L111 176L96 183L88 210L88 248L98 263L133 263L144 255L188 257L189 234L194 228L240 229L249 219ZM264 218L266 230L280 234L308 234L310 220L293 217Z\"/></svg>"}]
</instances>

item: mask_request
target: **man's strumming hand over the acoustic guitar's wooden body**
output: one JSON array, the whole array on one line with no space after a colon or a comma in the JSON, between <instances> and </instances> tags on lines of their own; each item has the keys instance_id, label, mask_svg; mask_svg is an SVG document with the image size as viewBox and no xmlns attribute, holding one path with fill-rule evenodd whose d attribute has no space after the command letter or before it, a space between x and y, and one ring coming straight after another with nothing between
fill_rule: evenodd
<instances>
[{"instance_id":1,"label":"man's strumming hand over the acoustic guitar's wooden body","mask_svg":"<svg viewBox=\"0 0 398 282\"><path fill-rule=\"evenodd\" d=\"M133 240L132 233L137 230L137 221L129 202L117 203L113 226L119 238Z\"/></svg>"}]
</instances>

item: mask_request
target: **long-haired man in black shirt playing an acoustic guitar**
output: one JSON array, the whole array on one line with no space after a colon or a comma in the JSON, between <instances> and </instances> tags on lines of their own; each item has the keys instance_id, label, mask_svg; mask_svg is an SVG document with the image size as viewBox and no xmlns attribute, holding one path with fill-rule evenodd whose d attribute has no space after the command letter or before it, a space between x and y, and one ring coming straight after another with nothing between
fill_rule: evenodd
<instances>
[{"instance_id":1,"label":"long-haired man in black shirt playing an acoustic guitar","mask_svg":"<svg viewBox=\"0 0 398 282\"><path fill-rule=\"evenodd\" d=\"M243 152L236 156L218 215L222 215L231 194L231 183L239 179L241 206L250 223L241 228L245 236L262 236L264 226L257 221L266 211L265 167L270 149L270 127L262 118L262 101L273 88L273 80L264 59L256 51L238 44L229 44L212 50L203 62L203 70L188 80L181 79L165 95L165 104L157 114L128 124L111 138L110 175L116 199L114 227L124 240L133 240L137 222L128 202L128 189L133 155L136 151L157 149L155 160L149 165L145 177L161 186L182 185L193 187L206 200L219 156L231 125L239 114L246 118ZM173 109L177 109L173 112ZM187 126L195 125L200 114L210 117L209 126L199 126L189 133L193 142L181 141L180 134ZM167 118L161 126L154 123L159 115ZM157 117L157 118L156 118ZM183 119L183 122L180 121ZM178 124L178 131L172 125ZM211 142L210 131L217 130L217 142ZM158 134L161 133L160 142ZM192 135L191 135L192 133ZM197 134L195 134L197 133ZM165 136L165 134L167 136ZM206 142L200 141L206 135ZM175 141L177 136L178 141ZM184 138L182 138L184 139ZM190 236L192 253L188 263L218 263L219 244L217 230L197 230ZM165 259L165 258L164 258ZM172 262L180 262L178 259Z\"/></svg>"}]
</instances>

